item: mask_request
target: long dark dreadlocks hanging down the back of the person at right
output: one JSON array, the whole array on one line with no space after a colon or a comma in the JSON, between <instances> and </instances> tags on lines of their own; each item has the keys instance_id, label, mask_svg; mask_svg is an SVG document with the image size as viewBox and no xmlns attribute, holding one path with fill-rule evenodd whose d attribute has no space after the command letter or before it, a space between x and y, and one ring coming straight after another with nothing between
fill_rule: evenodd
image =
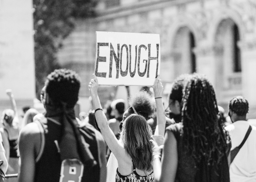
<instances>
[{"instance_id":1,"label":"long dark dreadlocks hanging down the back of the person at right","mask_svg":"<svg viewBox=\"0 0 256 182\"><path fill-rule=\"evenodd\" d=\"M227 149L224 124L218 120L214 88L199 74L188 77L182 97L184 144L196 163L220 163Z\"/></svg>"}]
</instances>

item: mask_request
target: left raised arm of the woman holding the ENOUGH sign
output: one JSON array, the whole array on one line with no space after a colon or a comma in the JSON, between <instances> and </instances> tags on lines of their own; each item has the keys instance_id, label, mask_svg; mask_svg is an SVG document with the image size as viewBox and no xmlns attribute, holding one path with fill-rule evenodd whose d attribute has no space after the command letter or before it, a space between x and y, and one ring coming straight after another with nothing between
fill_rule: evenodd
<instances>
[{"instance_id":1,"label":"left raised arm of the woman holding the ENOUGH sign","mask_svg":"<svg viewBox=\"0 0 256 182\"><path fill-rule=\"evenodd\" d=\"M104 137L110 150L116 156L116 158L121 159L125 155L125 150L121 142L117 140L113 131L109 128L108 120L104 112L102 110L97 110L98 108L102 109L102 107L98 97L98 79L94 74L93 74L93 79L91 79L91 82L89 83L89 90L91 93L91 98L92 98L93 106L95 110L95 118L96 118L98 127L101 130L101 134Z\"/></svg>"}]
</instances>

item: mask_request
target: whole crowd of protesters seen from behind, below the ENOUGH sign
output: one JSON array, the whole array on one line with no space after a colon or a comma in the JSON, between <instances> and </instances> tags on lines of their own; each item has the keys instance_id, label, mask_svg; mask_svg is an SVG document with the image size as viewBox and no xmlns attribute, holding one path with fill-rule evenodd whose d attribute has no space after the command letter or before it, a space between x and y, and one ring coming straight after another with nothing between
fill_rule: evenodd
<instances>
[{"instance_id":1,"label":"whole crowd of protesters seen from behind, below the ENOUGH sign","mask_svg":"<svg viewBox=\"0 0 256 182\"><path fill-rule=\"evenodd\" d=\"M229 101L229 122L206 76L176 78L164 109L160 75L153 94L142 90L128 103L117 98L105 108L93 75L94 109L78 119L79 88L74 71L55 70L41 92L45 112L27 108L21 124L7 90L12 109L3 111L0 128L4 181L256 181L256 127L246 121L248 101ZM4 178L16 173L18 178Z\"/></svg>"}]
</instances>

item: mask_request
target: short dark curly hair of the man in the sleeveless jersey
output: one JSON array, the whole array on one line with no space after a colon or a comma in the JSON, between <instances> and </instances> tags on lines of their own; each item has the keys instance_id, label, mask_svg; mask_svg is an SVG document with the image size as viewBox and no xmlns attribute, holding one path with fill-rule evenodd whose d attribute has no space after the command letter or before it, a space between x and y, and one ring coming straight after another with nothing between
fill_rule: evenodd
<instances>
[{"instance_id":1,"label":"short dark curly hair of the man in the sleeveless jersey","mask_svg":"<svg viewBox=\"0 0 256 182\"><path fill-rule=\"evenodd\" d=\"M67 103L68 107L74 107L78 101L80 78L75 71L59 69L47 76L45 81L46 93L56 104Z\"/></svg>"}]
</instances>

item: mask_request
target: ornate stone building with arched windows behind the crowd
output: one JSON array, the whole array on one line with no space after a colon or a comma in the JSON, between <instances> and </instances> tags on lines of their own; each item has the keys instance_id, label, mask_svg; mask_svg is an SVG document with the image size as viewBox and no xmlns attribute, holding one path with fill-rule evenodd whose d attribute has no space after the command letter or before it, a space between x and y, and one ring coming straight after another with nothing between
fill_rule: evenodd
<instances>
[{"instance_id":1,"label":"ornate stone building with arched windows behind the crowd","mask_svg":"<svg viewBox=\"0 0 256 182\"><path fill-rule=\"evenodd\" d=\"M243 95L248 117L256 118L255 0L100 0L96 12L77 21L59 53L61 64L82 76L82 98L89 96L95 31L157 33L166 88L182 73L206 74L219 105L227 111L228 100Z\"/></svg>"}]
</instances>

